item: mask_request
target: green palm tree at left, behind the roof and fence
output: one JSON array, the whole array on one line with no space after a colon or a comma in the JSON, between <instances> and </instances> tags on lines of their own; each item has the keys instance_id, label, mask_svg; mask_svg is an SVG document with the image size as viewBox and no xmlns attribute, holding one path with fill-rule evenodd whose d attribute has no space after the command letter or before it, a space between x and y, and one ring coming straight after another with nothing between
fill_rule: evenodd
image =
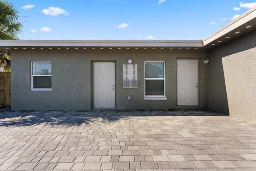
<instances>
[{"instance_id":1,"label":"green palm tree at left, behind the roof and fence","mask_svg":"<svg viewBox=\"0 0 256 171\"><path fill-rule=\"evenodd\" d=\"M22 22L19 22L19 12L8 2L0 0L0 39L15 40L22 32ZM0 53L0 67L4 72L10 72L10 54Z\"/></svg>"}]
</instances>

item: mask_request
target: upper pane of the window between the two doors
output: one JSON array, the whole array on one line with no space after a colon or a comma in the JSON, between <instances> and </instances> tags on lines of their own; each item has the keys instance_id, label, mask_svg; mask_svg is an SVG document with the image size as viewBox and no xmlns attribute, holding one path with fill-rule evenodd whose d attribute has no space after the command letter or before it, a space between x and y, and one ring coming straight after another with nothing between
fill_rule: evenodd
<instances>
[{"instance_id":1,"label":"upper pane of the window between the two doors","mask_svg":"<svg viewBox=\"0 0 256 171\"><path fill-rule=\"evenodd\" d=\"M164 78L164 62L145 62L145 78Z\"/></svg>"}]
</instances>

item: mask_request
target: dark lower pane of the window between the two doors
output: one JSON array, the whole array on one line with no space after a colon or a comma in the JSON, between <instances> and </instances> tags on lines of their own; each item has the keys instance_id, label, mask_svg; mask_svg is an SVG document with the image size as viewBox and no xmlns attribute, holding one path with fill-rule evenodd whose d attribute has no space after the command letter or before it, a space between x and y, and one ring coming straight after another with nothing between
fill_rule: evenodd
<instances>
[{"instance_id":1,"label":"dark lower pane of the window between the two doors","mask_svg":"<svg viewBox=\"0 0 256 171\"><path fill-rule=\"evenodd\" d=\"M164 80L145 80L146 95L164 96Z\"/></svg>"}]
</instances>

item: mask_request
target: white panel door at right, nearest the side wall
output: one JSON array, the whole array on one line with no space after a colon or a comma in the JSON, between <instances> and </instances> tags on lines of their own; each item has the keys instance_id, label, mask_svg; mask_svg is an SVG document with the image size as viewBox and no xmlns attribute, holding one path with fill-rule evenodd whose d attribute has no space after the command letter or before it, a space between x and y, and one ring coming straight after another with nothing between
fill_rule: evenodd
<instances>
[{"instance_id":1,"label":"white panel door at right, nearest the side wall","mask_svg":"<svg viewBox=\"0 0 256 171\"><path fill-rule=\"evenodd\" d=\"M177 60L177 105L198 105L198 60Z\"/></svg>"}]
</instances>

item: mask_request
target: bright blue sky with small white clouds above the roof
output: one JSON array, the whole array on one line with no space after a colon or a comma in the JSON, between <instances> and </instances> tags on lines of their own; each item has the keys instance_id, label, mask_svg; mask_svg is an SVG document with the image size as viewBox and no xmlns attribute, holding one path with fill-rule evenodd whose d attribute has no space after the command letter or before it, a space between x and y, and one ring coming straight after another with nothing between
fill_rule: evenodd
<instances>
[{"instance_id":1,"label":"bright blue sky with small white clouds above the roof","mask_svg":"<svg viewBox=\"0 0 256 171\"><path fill-rule=\"evenodd\" d=\"M202 40L256 0L9 0L21 40Z\"/></svg>"}]
</instances>

